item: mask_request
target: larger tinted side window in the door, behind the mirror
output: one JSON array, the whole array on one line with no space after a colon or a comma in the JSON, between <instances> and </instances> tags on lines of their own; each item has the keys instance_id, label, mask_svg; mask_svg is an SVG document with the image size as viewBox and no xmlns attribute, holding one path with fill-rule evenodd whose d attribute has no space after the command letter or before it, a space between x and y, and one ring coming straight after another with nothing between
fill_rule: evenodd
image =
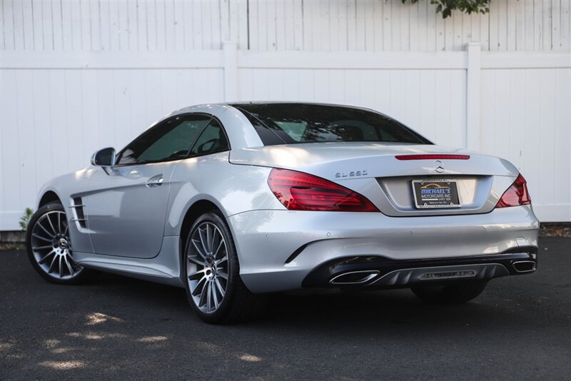
<instances>
[{"instance_id":1,"label":"larger tinted side window in the door, behind the mirror","mask_svg":"<svg viewBox=\"0 0 571 381\"><path fill-rule=\"evenodd\" d=\"M186 115L170 118L151 128L121 151L118 164L156 163L186 158L210 116Z\"/></svg>"}]
</instances>

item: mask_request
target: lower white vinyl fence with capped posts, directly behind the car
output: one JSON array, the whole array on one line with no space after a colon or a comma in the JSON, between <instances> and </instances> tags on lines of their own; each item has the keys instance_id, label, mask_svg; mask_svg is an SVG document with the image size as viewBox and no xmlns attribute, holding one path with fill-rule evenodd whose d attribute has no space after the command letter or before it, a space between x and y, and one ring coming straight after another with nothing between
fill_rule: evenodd
<instances>
[{"instance_id":1,"label":"lower white vinyl fence with capped posts, directly behind the car","mask_svg":"<svg viewBox=\"0 0 571 381\"><path fill-rule=\"evenodd\" d=\"M571 220L571 57L467 51L192 54L4 52L1 230L41 183L121 148L176 108L221 101L319 101L388 113L438 144L509 159L543 221ZM16 89L16 91L14 91Z\"/></svg>"}]
</instances>

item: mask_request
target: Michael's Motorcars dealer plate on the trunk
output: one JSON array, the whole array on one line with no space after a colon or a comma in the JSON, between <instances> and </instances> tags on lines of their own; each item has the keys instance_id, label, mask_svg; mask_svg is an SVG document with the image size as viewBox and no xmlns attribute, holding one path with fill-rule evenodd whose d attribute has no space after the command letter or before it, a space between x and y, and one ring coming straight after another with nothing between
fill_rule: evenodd
<instances>
[{"instance_id":1,"label":"Michael's Motorcars dealer plate on the trunk","mask_svg":"<svg viewBox=\"0 0 571 381\"><path fill-rule=\"evenodd\" d=\"M456 182L447 179L413 180L416 208L460 208Z\"/></svg>"}]
</instances>

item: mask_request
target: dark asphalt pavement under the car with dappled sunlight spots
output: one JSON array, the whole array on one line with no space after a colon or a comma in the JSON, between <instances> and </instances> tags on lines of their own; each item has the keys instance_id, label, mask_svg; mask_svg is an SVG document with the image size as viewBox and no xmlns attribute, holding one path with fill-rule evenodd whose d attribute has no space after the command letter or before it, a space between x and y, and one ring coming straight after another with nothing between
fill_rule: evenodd
<instances>
[{"instance_id":1,"label":"dark asphalt pavement under the car with dappled sunlight spots","mask_svg":"<svg viewBox=\"0 0 571 381\"><path fill-rule=\"evenodd\" d=\"M532 275L465 305L409 290L276 295L271 316L207 325L182 289L104 274L52 285L0 252L0 380L569 380L571 238Z\"/></svg>"}]
</instances>

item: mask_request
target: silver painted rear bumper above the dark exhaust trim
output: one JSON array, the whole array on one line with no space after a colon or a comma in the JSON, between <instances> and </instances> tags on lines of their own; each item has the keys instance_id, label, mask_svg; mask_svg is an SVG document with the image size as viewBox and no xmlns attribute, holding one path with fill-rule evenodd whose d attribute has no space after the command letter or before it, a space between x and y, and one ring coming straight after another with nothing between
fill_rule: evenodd
<instances>
[{"instance_id":1,"label":"silver painted rear bumper above the dark exhaust trim","mask_svg":"<svg viewBox=\"0 0 571 381\"><path fill-rule=\"evenodd\" d=\"M309 275L332 265L338 268L350 258L368 258L369 265L374 263L377 268L373 270L379 271L375 282L380 285L390 263L406 270L420 263L450 267L474 265L458 263L468 258L535 255L539 229L530 205L486 214L403 218L382 213L256 210L232 215L228 224L238 249L241 278L254 293L321 287L323 281ZM515 273L510 263L495 263L505 271L498 267L493 277ZM491 273L488 262L483 264Z\"/></svg>"}]
</instances>

